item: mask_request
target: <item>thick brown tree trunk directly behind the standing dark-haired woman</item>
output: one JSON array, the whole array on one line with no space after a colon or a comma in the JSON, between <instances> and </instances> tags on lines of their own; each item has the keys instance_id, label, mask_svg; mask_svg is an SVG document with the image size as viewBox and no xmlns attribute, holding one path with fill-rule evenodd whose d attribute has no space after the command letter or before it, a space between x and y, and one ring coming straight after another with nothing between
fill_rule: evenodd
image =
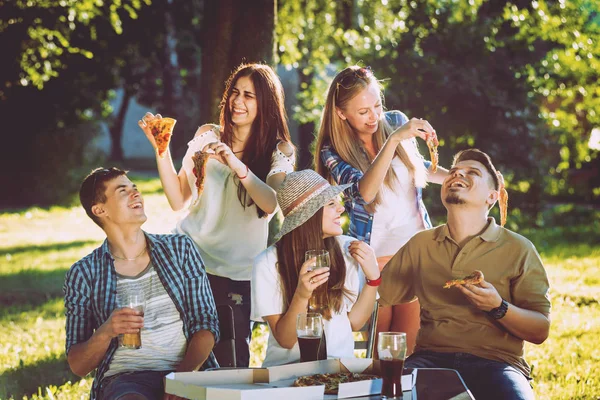
<instances>
[{"instance_id":1,"label":"thick brown tree trunk directly behind the standing dark-haired woman","mask_svg":"<svg viewBox=\"0 0 600 400\"><path fill-rule=\"evenodd\" d=\"M225 81L241 62L273 64L275 0L220 0L204 3L201 123L219 122Z\"/></svg>"}]
</instances>

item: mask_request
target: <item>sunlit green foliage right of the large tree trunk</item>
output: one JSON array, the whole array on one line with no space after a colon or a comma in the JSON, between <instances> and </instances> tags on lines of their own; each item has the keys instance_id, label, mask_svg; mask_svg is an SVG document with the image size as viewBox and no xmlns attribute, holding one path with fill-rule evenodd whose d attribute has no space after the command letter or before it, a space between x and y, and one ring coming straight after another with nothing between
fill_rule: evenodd
<instances>
[{"instance_id":1,"label":"sunlit green foliage right of the large tree trunk","mask_svg":"<svg viewBox=\"0 0 600 400\"><path fill-rule=\"evenodd\" d=\"M280 59L318 71L300 88L301 123L319 120L328 67L370 65L389 109L437 129L443 165L483 149L513 206L535 215L547 195L599 199L598 178L576 186L573 174L600 167L587 145L599 122L599 10L591 0L283 2Z\"/></svg>"}]
</instances>

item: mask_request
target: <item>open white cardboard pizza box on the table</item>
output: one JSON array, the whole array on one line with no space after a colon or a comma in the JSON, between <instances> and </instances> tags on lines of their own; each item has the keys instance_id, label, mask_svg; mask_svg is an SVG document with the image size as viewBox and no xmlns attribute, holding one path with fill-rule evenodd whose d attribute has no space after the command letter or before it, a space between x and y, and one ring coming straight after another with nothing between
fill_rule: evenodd
<instances>
[{"instance_id":1,"label":"open white cardboard pizza box on the table","mask_svg":"<svg viewBox=\"0 0 600 400\"><path fill-rule=\"evenodd\" d=\"M377 374L379 363L344 358L268 368L171 373L165 377L165 391L195 400L343 399L381 393L382 379L342 383L337 395L326 395L325 386L292 387L297 377L336 372ZM415 382L416 370L402 377L404 398L411 398Z\"/></svg>"}]
</instances>

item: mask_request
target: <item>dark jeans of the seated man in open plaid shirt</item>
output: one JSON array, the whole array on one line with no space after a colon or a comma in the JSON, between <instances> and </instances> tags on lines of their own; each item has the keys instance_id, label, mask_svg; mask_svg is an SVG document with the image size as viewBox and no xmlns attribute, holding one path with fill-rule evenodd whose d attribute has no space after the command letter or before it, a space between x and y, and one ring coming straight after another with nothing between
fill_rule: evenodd
<instances>
[{"instance_id":1,"label":"dark jeans of the seated man in open plaid shirt","mask_svg":"<svg viewBox=\"0 0 600 400\"><path fill-rule=\"evenodd\" d=\"M162 400L164 376L171 371L132 371L102 380L100 400Z\"/></svg>"}]
</instances>

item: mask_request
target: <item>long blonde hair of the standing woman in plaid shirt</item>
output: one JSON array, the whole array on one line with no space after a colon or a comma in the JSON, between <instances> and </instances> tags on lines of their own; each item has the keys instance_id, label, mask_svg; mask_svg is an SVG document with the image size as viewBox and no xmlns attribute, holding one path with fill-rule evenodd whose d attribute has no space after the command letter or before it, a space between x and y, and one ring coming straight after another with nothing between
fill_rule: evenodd
<instances>
[{"instance_id":1,"label":"long blonde hair of the standing woman in plaid shirt","mask_svg":"<svg viewBox=\"0 0 600 400\"><path fill-rule=\"evenodd\" d=\"M321 116L314 160L317 172L332 184L337 182L333 180L329 169L321 160L321 150L325 145L331 145L342 160L363 173L369 169L373 162L373 159L371 159L369 153L361 144L348 120L341 119L336 112L336 107L344 110L348 103L369 85L377 86L381 101L383 102L381 84L371 70L367 68L356 65L348 67L338 73L329 85L327 101L323 108L323 115ZM382 113L380 124L378 124L377 131L373 134L373 144L376 153L381 150L388 136L393 131L394 129ZM407 152L405 147L411 151ZM407 146L398 145L395 153L408 169L413 185L415 187L425 187L427 184L427 170L423 164L423 157L418 151L416 140L411 139L411 142L407 143ZM394 190L394 183L397 181L398 178L394 170L389 168L383 180L384 185ZM367 210L375 212L377 205L380 203L381 191L377 193L375 200L367 206Z\"/></svg>"}]
</instances>

